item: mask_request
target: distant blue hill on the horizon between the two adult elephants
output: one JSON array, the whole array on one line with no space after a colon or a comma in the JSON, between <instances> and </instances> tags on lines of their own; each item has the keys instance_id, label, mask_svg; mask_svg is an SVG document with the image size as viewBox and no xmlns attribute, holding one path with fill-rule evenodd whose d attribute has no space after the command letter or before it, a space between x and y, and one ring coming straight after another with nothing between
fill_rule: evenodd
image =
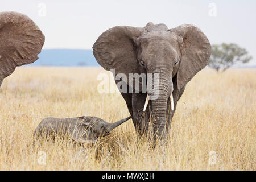
<instances>
[{"instance_id":1,"label":"distant blue hill on the horizon between the two adult elephants","mask_svg":"<svg viewBox=\"0 0 256 182\"><path fill-rule=\"evenodd\" d=\"M99 67L92 50L43 49L33 66Z\"/></svg>"}]
</instances>

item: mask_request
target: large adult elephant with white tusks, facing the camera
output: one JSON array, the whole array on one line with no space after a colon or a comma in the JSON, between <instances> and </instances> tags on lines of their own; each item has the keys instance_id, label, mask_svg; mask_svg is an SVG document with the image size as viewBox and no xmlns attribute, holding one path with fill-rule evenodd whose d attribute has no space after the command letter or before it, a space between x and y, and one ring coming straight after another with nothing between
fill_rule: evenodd
<instances>
[{"instance_id":1,"label":"large adult elephant with white tusks, facing the camera","mask_svg":"<svg viewBox=\"0 0 256 182\"><path fill-rule=\"evenodd\" d=\"M129 73L158 73L158 80L152 79L152 89L147 93L121 93L135 129L139 134L147 133L153 121L155 139L165 138L170 131L185 85L207 65L210 53L207 37L191 24L172 29L151 22L144 28L116 26L102 33L93 45L96 60L108 71L114 68L115 74L127 77ZM133 86L125 82L127 88ZM156 90L158 97L152 98L148 107L148 100Z\"/></svg>"}]
</instances>

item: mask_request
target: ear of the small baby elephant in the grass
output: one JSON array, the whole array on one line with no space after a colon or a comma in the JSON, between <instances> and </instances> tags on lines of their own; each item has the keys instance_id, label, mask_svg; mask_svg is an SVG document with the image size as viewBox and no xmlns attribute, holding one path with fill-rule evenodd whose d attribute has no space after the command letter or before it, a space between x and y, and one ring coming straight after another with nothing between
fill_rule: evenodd
<instances>
[{"instance_id":1,"label":"ear of the small baby elephant in the grass","mask_svg":"<svg viewBox=\"0 0 256 182\"><path fill-rule=\"evenodd\" d=\"M98 140L88 122L77 122L69 128L68 135L80 143L95 143Z\"/></svg>"}]
</instances>

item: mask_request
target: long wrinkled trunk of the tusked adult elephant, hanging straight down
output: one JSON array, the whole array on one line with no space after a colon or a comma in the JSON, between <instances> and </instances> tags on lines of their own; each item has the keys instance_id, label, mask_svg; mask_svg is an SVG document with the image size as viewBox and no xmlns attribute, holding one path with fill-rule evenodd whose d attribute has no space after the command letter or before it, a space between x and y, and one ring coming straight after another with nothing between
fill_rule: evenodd
<instances>
[{"instance_id":1,"label":"long wrinkled trunk of the tusked adult elephant, hanging straight down","mask_svg":"<svg viewBox=\"0 0 256 182\"><path fill-rule=\"evenodd\" d=\"M163 71L164 69L162 69ZM158 90L158 97L152 98L152 114L154 116L154 137L155 139L164 137L166 127L166 112L168 99L172 98L172 79L164 72L159 73L158 82L154 80L154 90ZM171 102L173 108L173 102Z\"/></svg>"}]
</instances>

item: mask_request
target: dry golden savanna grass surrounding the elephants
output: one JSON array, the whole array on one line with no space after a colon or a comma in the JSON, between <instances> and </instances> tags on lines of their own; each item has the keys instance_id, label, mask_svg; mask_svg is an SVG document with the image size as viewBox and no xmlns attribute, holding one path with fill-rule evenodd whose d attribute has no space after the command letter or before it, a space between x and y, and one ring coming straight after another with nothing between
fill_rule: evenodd
<instances>
[{"instance_id":1,"label":"dry golden savanna grass surrounding the elephants","mask_svg":"<svg viewBox=\"0 0 256 182\"><path fill-rule=\"evenodd\" d=\"M166 147L138 142L130 121L94 145L38 141L48 116L129 115L120 94L99 94L102 68L22 67L0 89L0 170L255 170L256 70L204 69L181 97ZM46 152L46 165L40 159ZM216 152L216 164L213 155ZM41 157L41 158L40 158Z\"/></svg>"}]
</instances>

